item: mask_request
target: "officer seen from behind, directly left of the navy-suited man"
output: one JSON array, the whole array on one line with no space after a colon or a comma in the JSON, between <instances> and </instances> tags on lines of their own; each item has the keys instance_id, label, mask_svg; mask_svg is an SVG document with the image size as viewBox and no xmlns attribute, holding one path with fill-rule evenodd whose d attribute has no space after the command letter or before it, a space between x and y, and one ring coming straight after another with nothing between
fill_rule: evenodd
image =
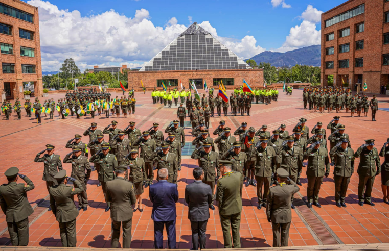
<instances>
[{"instance_id":1,"label":"officer seen from behind, directly left of the navy-suited man","mask_svg":"<svg viewBox=\"0 0 389 251\"><path fill-rule=\"evenodd\" d=\"M108 182L107 200L112 208L111 217L111 247L119 247L120 227L123 228L123 245L122 248L131 246L131 229L132 229L132 205L135 204L134 185L126 181L125 173L127 166L118 166L115 170L116 179Z\"/></svg>"}]
</instances>

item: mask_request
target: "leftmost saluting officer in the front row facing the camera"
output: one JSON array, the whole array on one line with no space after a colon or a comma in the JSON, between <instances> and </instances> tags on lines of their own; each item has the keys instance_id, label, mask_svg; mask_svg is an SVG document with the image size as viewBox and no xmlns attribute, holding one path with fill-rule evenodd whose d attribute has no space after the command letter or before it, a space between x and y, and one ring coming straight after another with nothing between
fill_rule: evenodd
<instances>
[{"instance_id":1,"label":"leftmost saluting officer in the front row facing the camera","mask_svg":"<svg viewBox=\"0 0 389 251\"><path fill-rule=\"evenodd\" d=\"M57 184L57 180L54 178L54 175L58 171L62 170L61 157L57 154L54 154L54 145L47 144L46 149L39 152L34 159L34 162L43 162L43 178L42 180L46 182L46 188L50 192L50 187ZM40 158L40 155L47 151L47 154L43 155ZM51 207L49 207L51 211Z\"/></svg>"}]
</instances>

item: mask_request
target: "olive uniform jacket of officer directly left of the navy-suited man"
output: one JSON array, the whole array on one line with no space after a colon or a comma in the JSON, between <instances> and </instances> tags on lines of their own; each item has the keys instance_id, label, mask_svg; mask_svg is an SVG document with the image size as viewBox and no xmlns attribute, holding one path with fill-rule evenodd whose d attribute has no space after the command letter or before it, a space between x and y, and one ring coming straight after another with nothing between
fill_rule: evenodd
<instances>
[{"instance_id":1,"label":"olive uniform jacket of officer directly left of the navy-suited man","mask_svg":"<svg viewBox=\"0 0 389 251\"><path fill-rule=\"evenodd\" d=\"M106 183L107 201L111 202L110 215L115 221L127 221L132 218L132 205L136 197L134 185L118 177Z\"/></svg>"}]
</instances>

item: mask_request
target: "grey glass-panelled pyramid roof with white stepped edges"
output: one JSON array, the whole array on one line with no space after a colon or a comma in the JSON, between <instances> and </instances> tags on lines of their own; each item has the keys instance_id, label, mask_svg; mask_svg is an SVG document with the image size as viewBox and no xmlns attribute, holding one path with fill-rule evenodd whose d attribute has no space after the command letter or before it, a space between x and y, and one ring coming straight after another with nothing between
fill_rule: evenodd
<instances>
[{"instance_id":1,"label":"grey glass-panelled pyramid roof with white stepped edges","mask_svg":"<svg viewBox=\"0 0 389 251\"><path fill-rule=\"evenodd\" d=\"M196 69L251 69L251 67L194 22L140 71Z\"/></svg>"}]
</instances>

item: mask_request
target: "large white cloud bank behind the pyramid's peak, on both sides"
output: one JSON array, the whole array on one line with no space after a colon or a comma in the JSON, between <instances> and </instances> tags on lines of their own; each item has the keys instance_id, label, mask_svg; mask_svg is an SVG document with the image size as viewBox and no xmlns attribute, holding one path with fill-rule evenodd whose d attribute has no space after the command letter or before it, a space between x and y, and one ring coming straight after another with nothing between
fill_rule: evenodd
<instances>
[{"instance_id":1,"label":"large white cloud bank behind the pyramid's peak, on both sides","mask_svg":"<svg viewBox=\"0 0 389 251\"><path fill-rule=\"evenodd\" d=\"M146 9L136 10L133 17L115 10L81 16L77 10L60 10L48 1L30 0L28 3L39 8L44 71L58 70L66 58L73 58L81 70L94 65L140 67L187 29L178 24L175 17L165 27L155 26ZM264 51L256 46L253 36L233 40L218 37L209 21L203 21L200 26L239 57L253 57Z\"/></svg>"}]
</instances>

